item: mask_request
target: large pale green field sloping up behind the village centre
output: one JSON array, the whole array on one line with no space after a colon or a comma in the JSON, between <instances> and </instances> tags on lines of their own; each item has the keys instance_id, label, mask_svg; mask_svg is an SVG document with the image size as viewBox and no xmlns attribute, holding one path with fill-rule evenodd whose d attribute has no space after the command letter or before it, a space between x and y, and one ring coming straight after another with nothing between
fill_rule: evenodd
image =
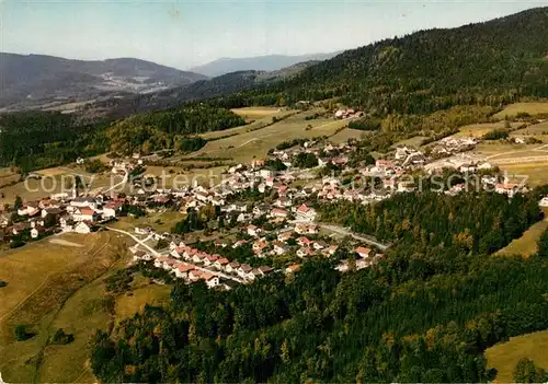
<instances>
[{"instance_id":1,"label":"large pale green field sloping up behind the village centre","mask_svg":"<svg viewBox=\"0 0 548 384\"><path fill-rule=\"evenodd\" d=\"M262 129L210 141L190 156L222 156L231 158L235 162L249 162L253 158L264 158L269 149L283 141L332 136L349 123L331 118L306 120L309 114L297 114Z\"/></svg>"}]
</instances>

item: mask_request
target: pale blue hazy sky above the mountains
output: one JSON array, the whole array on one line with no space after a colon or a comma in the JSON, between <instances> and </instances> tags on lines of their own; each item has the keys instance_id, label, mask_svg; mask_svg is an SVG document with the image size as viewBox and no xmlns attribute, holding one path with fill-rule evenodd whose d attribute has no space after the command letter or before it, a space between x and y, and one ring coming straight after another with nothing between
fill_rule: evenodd
<instances>
[{"instance_id":1,"label":"pale blue hazy sky above the mountains","mask_svg":"<svg viewBox=\"0 0 548 384\"><path fill-rule=\"evenodd\" d=\"M546 1L0 0L0 51L190 69L222 57L356 48L487 21Z\"/></svg>"}]
</instances>

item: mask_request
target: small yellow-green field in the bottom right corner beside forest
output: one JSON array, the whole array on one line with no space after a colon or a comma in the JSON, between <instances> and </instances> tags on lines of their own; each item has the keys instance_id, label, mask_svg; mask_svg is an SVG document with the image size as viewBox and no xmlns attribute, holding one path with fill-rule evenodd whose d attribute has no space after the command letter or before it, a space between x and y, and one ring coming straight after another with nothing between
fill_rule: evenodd
<instances>
[{"instance_id":1,"label":"small yellow-green field in the bottom right corner beside forest","mask_svg":"<svg viewBox=\"0 0 548 384\"><path fill-rule=\"evenodd\" d=\"M512 337L510 341L499 344L486 351L489 368L495 368L495 382L512 383L513 370L521 358L535 361L537 366L548 369L548 330Z\"/></svg>"}]
</instances>

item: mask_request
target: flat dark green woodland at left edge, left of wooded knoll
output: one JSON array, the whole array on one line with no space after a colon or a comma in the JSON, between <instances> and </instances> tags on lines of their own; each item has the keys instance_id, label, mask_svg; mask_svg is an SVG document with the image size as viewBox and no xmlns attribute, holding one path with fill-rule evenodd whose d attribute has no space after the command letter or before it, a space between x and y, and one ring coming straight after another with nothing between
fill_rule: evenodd
<instances>
[{"instance_id":1,"label":"flat dark green woodland at left edge, left of wooded knoll","mask_svg":"<svg viewBox=\"0 0 548 384\"><path fill-rule=\"evenodd\" d=\"M80 126L73 116L60 113L0 115L0 166L19 166L27 173L104 153L105 127L105 123Z\"/></svg>"}]
</instances>

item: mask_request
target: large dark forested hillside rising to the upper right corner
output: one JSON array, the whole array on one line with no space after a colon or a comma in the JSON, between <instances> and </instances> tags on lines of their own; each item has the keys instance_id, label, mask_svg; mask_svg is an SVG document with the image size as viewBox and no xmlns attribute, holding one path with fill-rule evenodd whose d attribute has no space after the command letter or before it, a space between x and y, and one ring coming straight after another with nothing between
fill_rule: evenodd
<instances>
[{"instance_id":1,"label":"large dark forested hillside rising to the upper right corner","mask_svg":"<svg viewBox=\"0 0 548 384\"><path fill-rule=\"evenodd\" d=\"M538 8L386 39L344 51L293 79L225 97L222 103L235 107L336 96L372 114L387 115L547 97L547 18L548 8Z\"/></svg>"}]
</instances>

